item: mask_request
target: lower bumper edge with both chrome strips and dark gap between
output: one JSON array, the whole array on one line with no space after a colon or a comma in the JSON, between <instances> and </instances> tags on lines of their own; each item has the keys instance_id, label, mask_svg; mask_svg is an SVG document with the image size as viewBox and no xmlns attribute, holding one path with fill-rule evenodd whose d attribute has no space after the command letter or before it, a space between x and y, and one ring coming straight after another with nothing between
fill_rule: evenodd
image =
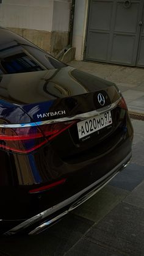
<instances>
[{"instance_id":1,"label":"lower bumper edge with both chrome strips and dark gap between","mask_svg":"<svg viewBox=\"0 0 144 256\"><path fill-rule=\"evenodd\" d=\"M16 225L9 231L5 232L5 235L14 235L16 233L27 232L30 235L35 235L42 232L44 229L48 228L54 222L57 222L60 218L68 214L74 208L78 207L84 203L87 199L96 194L101 188L103 188L110 180L112 180L115 175L118 174L124 167L126 167L131 160L132 153L130 152L126 158L123 159L117 166L115 166L110 172L108 172L103 177L96 180L87 188L82 189L77 194L69 197L63 202L54 205L48 210L42 211L41 213L27 219L21 224Z\"/></svg>"}]
</instances>

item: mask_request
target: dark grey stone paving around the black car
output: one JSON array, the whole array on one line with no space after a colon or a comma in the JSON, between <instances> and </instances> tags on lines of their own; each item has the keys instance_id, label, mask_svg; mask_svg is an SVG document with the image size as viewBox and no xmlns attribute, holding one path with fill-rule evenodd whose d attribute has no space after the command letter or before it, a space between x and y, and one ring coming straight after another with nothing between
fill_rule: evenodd
<instances>
[{"instance_id":1,"label":"dark grey stone paving around the black car","mask_svg":"<svg viewBox=\"0 0 144 256\"><path fill-rule=\"evenodd\" d=\"M93 64L90 65L93 67ZM123 67L119 68L121 70ZM87 71L94 72L92 68ZM133 102L135 93L131 91L144 92L144 84L142 86L144 72L142 71L138 69L141 81L137 75L135 83L134 76L133 79L129 77L131 83L125 76L126 83L135 84L135 87L121 85L123 92L130 91L128 96ZM129 68L128 72L130 73ZM102 72L101 74L103 75ZM104 71L104 74L107 74L107 71ZM100 73L98 75L100 76ZM113 79L114 75L111 76ZM123 84L124 75L121 75L121 82L120 78L117 79ZM139 94L135 100L140 102L142 95ZM135 107L137 107L136 104L132 105L132 108ZM143 109L137 109L137 111L143 111ZM123 172L45 233L38 236L1 238L0 255L144 256L144 122L132 120L132 125L134 126L133 157L131 164Z\"/></svg>"}]
</instances>

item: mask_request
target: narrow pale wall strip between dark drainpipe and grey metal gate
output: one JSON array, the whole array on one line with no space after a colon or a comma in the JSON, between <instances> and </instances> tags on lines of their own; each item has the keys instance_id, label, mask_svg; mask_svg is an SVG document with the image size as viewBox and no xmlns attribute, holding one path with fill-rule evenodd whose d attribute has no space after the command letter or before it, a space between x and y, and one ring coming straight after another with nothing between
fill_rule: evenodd
<instances>
[{"instance_id":1,"label":"narrow pale wall strip between dark drainpipe and grey metal gate","mask_svg":"<svg viewBox=\"0 0 144 256\"><path fill-rule=\"evenodd\" d=\"M76 0L74 11L73 46L76 47L76 60L84 58L84 40L87 26L88 0Z\"/></svg>"}]
</instances>

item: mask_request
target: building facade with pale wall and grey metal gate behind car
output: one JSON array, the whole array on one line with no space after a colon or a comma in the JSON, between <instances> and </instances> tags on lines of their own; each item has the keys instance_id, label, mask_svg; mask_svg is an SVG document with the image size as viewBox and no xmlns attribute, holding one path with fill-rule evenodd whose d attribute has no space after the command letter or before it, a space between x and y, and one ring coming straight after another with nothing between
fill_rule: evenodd
<instances>
[{"instance_id":1,"label":"building facade with pale wall and grey metal gate behind car","mask_svg":"<svg viewBox=\"0 0 144 256\"><path fill-rule=\"evenodd\" d=\"M76 60L144 67L144 0L1 0L0 25L56 56L70 43L71 2Z\"/></svg>"}]
</instances>

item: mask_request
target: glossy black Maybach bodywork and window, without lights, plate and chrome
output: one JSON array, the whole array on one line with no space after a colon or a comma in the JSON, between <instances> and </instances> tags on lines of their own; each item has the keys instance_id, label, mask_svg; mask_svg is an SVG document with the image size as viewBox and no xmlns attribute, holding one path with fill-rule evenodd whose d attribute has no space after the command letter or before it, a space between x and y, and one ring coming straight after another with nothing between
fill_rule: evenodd
<instances>
[{"instance_id":1,"label":"glossy black Maybach bodywork and window, without lights, plate and chrome","mask_svg":"<svg viewBox=\"0 0 144 256\"><path fill-rule=\"evenodd\" d=\"M6 29L0 28L0 35L0 124L71 117L100 110L120 98L112 82L62 64ZM27 62L20 68L22 60ZM98 103L98 93L104 95L104 106ZM45 114L59 111L65 112ZM86 140L79 140L74 125L27 155L0 150L0 219L31 218L117 166L131 152L133 130L127 110L116 107L112 119L112 125ZM61 178L67 179L64 185L29 194L30 189Z\"/></svg>"}]
</instances>

